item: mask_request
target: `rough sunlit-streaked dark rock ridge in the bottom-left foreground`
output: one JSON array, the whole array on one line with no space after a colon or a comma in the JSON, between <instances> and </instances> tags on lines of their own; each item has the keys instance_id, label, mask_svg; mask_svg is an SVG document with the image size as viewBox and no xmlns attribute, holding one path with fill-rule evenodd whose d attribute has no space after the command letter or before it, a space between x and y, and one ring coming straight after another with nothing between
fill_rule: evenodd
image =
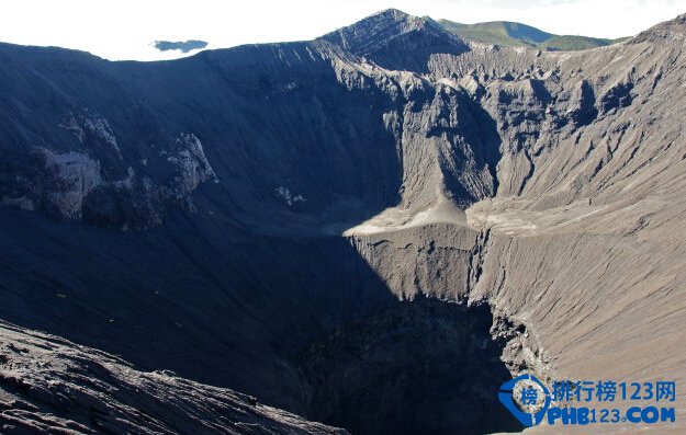
<instances>
[{"instance_id":1,"label":"rough sunlit-streaked dark rock ridge in the bottom-left foreground","mask_svg":"<svg viewBox=\"0 0 686 435\"><path fill-rule=\"evenodd\" d=\"M246 394L169 371L139 371L112 355L5 322L0 322L0 432L347 434Z\"/></svg>"}]
</instances>

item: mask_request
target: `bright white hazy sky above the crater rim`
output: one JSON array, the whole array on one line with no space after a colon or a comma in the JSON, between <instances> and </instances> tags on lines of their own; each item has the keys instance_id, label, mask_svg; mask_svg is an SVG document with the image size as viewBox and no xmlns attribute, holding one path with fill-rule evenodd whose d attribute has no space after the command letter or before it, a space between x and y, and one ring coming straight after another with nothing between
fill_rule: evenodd
<instances>
[{"instance_id":1,"label":"bright white hazy sky above the crater rim","mask_svg":"<svg viewBox=\"0 0 686 435\"><path fill-rule=\"evenodd\" d=\"M109 59L154 60L155 39L211 48L310 39L386 8L473 23L508 20L556 34L618 37L686 12L686 0L19 0L4 1L0 41L56 45Z\"/></svg>"}]
</instances>

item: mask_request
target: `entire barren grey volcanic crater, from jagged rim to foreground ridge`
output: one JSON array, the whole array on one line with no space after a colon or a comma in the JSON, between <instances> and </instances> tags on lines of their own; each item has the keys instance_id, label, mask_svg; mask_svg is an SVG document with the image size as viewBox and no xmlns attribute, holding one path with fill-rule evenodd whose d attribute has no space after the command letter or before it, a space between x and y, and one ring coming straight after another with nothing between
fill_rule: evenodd
<instances>
[{"instance_id":1,"label":"entire barren grey volcanic crater, from jagged rim to foreground ridge","mask_svg":"<svg viewBox=\"0 0 686 435\"><path fill-rule=\"evenodd\" d=\"M685 46L395 10L162 62L0 45L0 428L481 434L522 371L683 384Z\"/></svg>"}]
</instances>

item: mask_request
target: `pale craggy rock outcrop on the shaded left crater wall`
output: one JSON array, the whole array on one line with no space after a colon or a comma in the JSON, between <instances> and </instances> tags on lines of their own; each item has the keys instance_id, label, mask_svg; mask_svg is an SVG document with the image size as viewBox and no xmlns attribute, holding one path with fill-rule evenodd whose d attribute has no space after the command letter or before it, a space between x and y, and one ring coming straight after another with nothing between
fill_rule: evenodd
<instances>
[{"instance_id":1,"label":"pale craggy rock outcrop on the shaded left crater wall","mask_svg":"<svg viewBox=\"0 0 686 435\"><path fill-rule=\"evenodd\" d=\"M172 207L192 209L191 195L199 185L220 182L193 134L181 133L157 154L134 163L124 160L109 122L89 108L69 112L59 127L77 142L26 144L29 160L4 172L9 183L0 204L44 210L57 220L145 229L161 224Z\"/></svg>"}]
</instances>

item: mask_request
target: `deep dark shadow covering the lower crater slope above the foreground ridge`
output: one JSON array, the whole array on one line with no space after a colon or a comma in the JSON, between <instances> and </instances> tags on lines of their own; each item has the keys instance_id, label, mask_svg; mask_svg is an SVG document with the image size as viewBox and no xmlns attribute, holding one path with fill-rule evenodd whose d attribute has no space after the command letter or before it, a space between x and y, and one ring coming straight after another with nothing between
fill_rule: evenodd
<instances>
[{"instance_id":1,"label":"deep dark shadow covering the lower crater slope above the foreground ridge","mask_svg":"<svg viewBox=\"0 0 686 435\"><path fill-rule=\"evenodd\" d=\"M509 375L487 312L398 302L346 239L248 238L185 214L127 233L25 213L0 221L4 320L352 433L511 428L493 419Z\"/></svg>"}]
</instances>

